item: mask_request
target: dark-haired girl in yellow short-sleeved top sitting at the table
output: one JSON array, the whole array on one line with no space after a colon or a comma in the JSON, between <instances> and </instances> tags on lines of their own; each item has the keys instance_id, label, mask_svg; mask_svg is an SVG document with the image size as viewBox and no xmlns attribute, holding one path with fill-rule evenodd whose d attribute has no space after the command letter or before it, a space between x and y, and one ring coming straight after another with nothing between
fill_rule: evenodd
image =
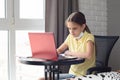
<instances>
[{"instance_id":1,"label":"dark-haired girl in yellow short-sleeved top sitting at the table","mask_svg":"<svg viewBox=\"0 0 120 80\"><path fill-rule=\"evenodd\" d=\"M81 12L73 12L65 23L69 30L69 35L57 49L58 54L64 52L68 48L64 53L65 55L85 58L85 62L71 65L69 74L63 76L71 77L71 74L74 76L85 75L87 69L95 65L94 36L90 33L86 25L85 16Z\"/></svg>"}]
</instances>

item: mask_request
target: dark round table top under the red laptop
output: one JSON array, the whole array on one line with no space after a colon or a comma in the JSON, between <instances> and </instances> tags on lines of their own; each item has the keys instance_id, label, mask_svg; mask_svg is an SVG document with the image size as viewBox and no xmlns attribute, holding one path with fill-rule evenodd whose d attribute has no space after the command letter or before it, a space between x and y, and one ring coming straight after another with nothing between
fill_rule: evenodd
<instances>
[{"instance_id":1,"label":"dark round table top under the red laptop","mask_svg":"<svg viewBox=\"0 0 120 80\"><path fill-rule=\"evenodd\" d=\"M38 58L27 58L27 57L19 57L18 60L23 64L30 65L71 65L71 64L79 64L83 63L85 59L82 58L74 58L74 59L58 59L57 61L51 60L43 60Z\"/></svg>"}]
</instances>

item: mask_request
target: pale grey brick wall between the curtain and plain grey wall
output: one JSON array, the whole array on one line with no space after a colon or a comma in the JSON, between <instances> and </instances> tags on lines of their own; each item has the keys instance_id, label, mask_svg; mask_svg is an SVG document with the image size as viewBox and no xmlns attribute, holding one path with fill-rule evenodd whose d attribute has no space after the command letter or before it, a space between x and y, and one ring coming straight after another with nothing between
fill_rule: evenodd
<instances>
[{"instance_id":1,"label":"pale grey brick wall between the curtain and plain grey wall","mask_svg":"<svg viewBox=\"0 0 120 80\"><path fill-rule=\"evenodd\" d=\"M107 35L107 0L79 0L79 10L93 34Z\"/></svg>"}]
</instances>

